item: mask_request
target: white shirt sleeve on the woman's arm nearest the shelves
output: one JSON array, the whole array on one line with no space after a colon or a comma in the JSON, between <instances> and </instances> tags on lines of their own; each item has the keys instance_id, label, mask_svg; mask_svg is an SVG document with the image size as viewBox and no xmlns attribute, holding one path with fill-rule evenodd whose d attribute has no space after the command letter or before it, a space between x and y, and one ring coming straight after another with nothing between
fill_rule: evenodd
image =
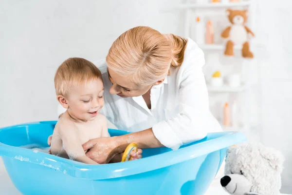
<instances>
[{"instance_id":1,"label":"white shirt sleeve on the woman's arm nearest the shelves","mask_svg":"<svg viewBox=\"0 0 292 195\"><path fill-rule=\"evenodd\" d=\"M155 137L173 150L206 137L207 132L212 132L208 129L208 123L218 123L209 110L208 91L202 72L204 63L204 54L198 46L184 56L177 75L179 113L152 127Z\"/></svg>"}]
</instances>

